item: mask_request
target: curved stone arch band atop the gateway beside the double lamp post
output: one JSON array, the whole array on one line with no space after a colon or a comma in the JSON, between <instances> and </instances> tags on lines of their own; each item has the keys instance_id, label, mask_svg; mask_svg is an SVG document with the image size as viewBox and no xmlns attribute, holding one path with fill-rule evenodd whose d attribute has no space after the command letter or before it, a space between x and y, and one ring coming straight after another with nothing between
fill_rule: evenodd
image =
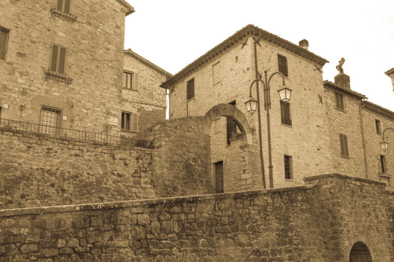
<instances>
[{"instance_id":1,"label":"curved stone arch band atop the gateway beside the double lamp post","mask_svg":"<svg viewBox=\"0 0 394 262\"><path fill-rule=\"evenodd\" d=\"M249 126L248 120L244 113L238 110L237 107L230 104L218 104L213 106L204 116L204 131L209 133L209 128L213 121L218 117L229 117L241 130L245 144L252 144L252 129Z\"/></svg>"}]
</instances>

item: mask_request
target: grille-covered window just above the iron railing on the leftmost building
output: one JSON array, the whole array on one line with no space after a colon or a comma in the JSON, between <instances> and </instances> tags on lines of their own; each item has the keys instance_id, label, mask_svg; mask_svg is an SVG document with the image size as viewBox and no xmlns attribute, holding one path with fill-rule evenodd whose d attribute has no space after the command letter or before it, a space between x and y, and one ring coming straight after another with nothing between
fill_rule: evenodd
<instances>
[{"instance_id":1,"label":"grille-covered window just above the iron railing on the leftmost building","mask_svg":"<svg viewBox=\"0 0 394 262\"><path fill-rule=\"evenodd\" d=\"M49 106L41 106L40 132L56 135L61 125L62 111Z\"/></svg>"}]
</instances>

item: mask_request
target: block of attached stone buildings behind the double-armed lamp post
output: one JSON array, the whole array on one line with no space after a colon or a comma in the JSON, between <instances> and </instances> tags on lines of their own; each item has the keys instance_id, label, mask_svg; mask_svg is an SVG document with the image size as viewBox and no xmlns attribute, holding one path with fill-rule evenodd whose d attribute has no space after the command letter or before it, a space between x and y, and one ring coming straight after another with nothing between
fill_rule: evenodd
<instances>
[{"instance_id":1,"label":"block of attached stone buildings behind the double-armed lamp post","mask_svg":"<svg viewBox=\"0 0 394 262\"><path fill-rule=\"evenodd\" d=\"M268 77L281 72L292 90L290 101L282 102L276 92L282 78L275 75L269 83L274 187L300 185L310 174L330 172L390 184L394 153L380 149L379 136L381 139L382 129L394 126L394 113L352 91L350 78L342 69L334 83L323 81L322 67L328 61L309 52L308 46L305 39L297 46L248 25L161 85L170 90L171 119L204 115L218 103L236 106L247 118L256 135L252 149L256 151L248 156L240 157L244 142L237 119L217 118L210 128L210 179L218 192L253 188L248 185L253 183L262 187L262 162L268 185L267 119L261 83L261 116L259 112L250 115L244 105L250 84L264 78L265 70ZM254 97L256 92L254 85ZM259 167L254 169L259 176L253 177L246 171L253 168L245 167L245 159L256 154Z\"/></svg>"}]
</instances>

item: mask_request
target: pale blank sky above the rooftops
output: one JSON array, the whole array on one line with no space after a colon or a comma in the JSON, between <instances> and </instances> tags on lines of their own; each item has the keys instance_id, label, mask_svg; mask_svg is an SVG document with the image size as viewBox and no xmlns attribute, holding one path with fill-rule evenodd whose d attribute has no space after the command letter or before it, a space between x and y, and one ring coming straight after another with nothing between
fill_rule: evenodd
<instances>
[{"instance_id":1,"label":"pale blank sky above the rooftops","mask_svg":"<svg viewBox=\"0 0 394 262\"><path fill-rule=\"evenodd\" d=\"M171 74L252 24L330 61L323 79L334 81L336 65L353 91L394 111L394 1L187 1L127 0L125 49L131 48Z\"/></svg>"}]
</instances>

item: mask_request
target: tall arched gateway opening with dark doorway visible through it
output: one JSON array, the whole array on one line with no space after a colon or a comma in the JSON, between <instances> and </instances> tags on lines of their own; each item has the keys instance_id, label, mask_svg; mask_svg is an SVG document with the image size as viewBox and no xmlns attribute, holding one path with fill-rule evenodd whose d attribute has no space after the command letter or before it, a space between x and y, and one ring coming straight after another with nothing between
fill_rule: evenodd
<instances>
[{"instance_id":1,"label":"tall arched gateway opening with dark doorway visible through it","mask_svg":"<svg viewBox=\"0 0 394 262\"><path fill-rule=\"evenodd\" d=\"M234 103L219 104L206 114L210 137L211 181L214 193L259 188L255 181L255 157L251 153L251 129ZM208 156L208 157L209 157Z\"/></svg>"}]
</instances>

